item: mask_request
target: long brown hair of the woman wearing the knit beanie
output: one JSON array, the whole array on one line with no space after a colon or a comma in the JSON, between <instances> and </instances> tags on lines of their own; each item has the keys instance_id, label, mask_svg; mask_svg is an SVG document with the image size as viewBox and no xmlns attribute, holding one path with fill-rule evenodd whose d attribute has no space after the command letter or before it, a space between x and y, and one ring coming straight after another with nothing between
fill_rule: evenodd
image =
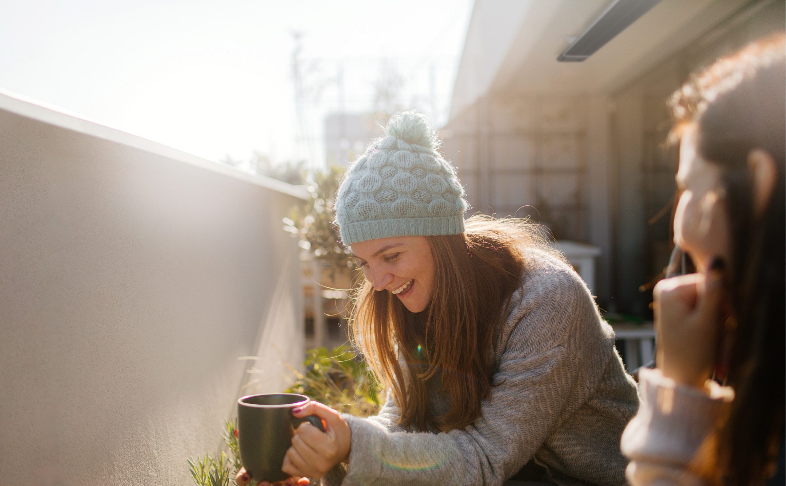
<instances>
[{"instance_id":1,"label":"long brown hair of the woman wearing the knit beanie","mask_svg":"<svg viewBox=\"0 0 786 486\"><path fill-rule=\"evenodd\" d=\"M428 237L435 280L425 311L413 314L370 282L355 296L354 342L390 388L406 427L449 431L479 417L492 386L494 330L521 285L527 249L550 251L539 227L521 219L476 215L465 226L462 234ZM431 387L450 399L446 413L432 410Z\"/></svg>"}]
</instances>

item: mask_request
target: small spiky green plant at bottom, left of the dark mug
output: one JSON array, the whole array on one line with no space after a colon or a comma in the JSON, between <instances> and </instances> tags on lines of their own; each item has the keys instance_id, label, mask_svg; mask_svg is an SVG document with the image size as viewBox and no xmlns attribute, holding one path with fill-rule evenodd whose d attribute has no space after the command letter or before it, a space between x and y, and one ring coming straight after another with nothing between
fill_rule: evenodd
<instances>
[{"instance_id":1,"label":"small spiky green plant at bottom, left of the dark mug","mask_svg":"<svg viewBox=\"0 0 786 486\"><path fill-rule=\"evenodd\" d=\"M196 486L230 486L236 485L234 477L241 469L241 452L237 444L237 418L224 421L224 430L221 434L224 444L230 450L230 455L226 451L221 451L219 455L204 455L204 458L196 456L196 459L188 458L191 477Z\"/></svg>"}]
</instances>

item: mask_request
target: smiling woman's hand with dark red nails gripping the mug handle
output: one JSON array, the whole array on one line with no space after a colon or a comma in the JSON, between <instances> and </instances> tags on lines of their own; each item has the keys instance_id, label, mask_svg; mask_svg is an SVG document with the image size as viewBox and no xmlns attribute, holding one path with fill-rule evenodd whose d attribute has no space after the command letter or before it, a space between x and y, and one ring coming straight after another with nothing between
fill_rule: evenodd
<instances>
[{"instance_id":1,"label":"smiling woman's hand with dark red nails gripping the mug handle","mask_svg":"<svg viewBox=\"0 0 786 486\"><path fill-rule=\"evenodd\" d=\"M339 462L347 461L351 447L351 430L341 415L326 405L310 401L296 408L297 418L317 415L325 424L321 432L308 422L303 422L292 437L281 470L295 477L323 477Z\"/></svg>"}]
</instances>

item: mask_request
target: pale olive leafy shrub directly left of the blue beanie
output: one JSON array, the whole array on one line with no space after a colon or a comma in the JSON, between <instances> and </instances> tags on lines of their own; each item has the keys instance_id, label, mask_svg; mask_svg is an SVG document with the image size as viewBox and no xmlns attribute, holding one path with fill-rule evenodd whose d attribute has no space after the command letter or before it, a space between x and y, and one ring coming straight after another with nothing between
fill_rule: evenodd
<instances>
[{"instance_id":1,"label":"pale olive leafy shrub directly left of the blue beanie","mask_svg":"<svg viewBox=\"0 0 786 486\"><path fill-rule=\"evenodd\" d=\"M284 229L304 241L314 257L333 271L354 269L352 254L341 244L333 223L336 219L336 191L343 172L343 168L336 166L326 172L312 172L307 186L309 200L292 208L289 217L284 219Z\"/></svg>"}]
</instances>

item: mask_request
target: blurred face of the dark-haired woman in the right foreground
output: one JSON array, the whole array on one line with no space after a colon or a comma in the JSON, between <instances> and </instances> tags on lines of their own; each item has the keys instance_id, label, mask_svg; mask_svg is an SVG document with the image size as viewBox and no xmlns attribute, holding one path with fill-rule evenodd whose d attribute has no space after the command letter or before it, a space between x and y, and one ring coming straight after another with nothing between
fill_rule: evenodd
<instances>
[{"instance_id":1,"label":"blurred face of the dark-haired woman in the right foreground","mask_svg":"<svg viewBox=\"0 0 786 486\"><path fill-rule=\"evenodd\" d=\"M704 271L716 256L729 260L729 218L722 197L721 169L696 151L695 127L682 135L677 186L682 191L674 212L674 244Z\"/></svg>"}]
</instances>

